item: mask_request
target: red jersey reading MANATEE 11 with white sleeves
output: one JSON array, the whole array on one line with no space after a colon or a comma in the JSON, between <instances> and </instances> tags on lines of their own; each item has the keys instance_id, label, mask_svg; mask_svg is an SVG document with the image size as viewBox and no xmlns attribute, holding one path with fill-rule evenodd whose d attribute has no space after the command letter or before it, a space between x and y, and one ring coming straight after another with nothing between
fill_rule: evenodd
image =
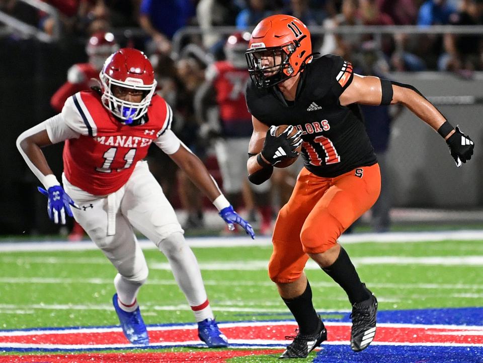
<instances>
[{"instance_id":1,"label":"red jersey reading MANATEE 11 with white sleeves","mask_svg":"<svg viewBox=\"0 0 483 363\"><path fill-rule=\"evenodd\" d=\"M147 122L128 126L104 107L96 92L74 94L65 102L62 117L80 136L65 141L65 177L94 195L115 192L128 181L136 163L146 156L149 145L171 127L172 115L168 103L154 95Z\"/></svg>"}]
</instances>

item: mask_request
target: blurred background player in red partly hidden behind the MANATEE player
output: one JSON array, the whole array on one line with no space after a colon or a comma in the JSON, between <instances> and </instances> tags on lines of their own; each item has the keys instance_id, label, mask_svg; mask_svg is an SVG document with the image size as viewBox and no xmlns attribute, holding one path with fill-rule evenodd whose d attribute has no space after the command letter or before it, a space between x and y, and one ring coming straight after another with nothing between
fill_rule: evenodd
<instances>
[{"instance_id":1,"label":"blurred background player in red partly hidden behind the MANATEE player","mask_svg":"<svg viewBox=\"0 0 483 363\"><path fill-rule=\"evenodd\" d=\"M50 98L50 105L57 112L62 110L65 101L74 93L90 89L96 85L93 79L99 80L99 72L108 56L119 49L119 45L112 33L97 32L89 38L86 45L86 53L89 56L88 63L76 63L67 71L65 82ZM70 241L81 240L84 230L75 220L72 231L69 233Z\"/></svg>"}]
</instances>

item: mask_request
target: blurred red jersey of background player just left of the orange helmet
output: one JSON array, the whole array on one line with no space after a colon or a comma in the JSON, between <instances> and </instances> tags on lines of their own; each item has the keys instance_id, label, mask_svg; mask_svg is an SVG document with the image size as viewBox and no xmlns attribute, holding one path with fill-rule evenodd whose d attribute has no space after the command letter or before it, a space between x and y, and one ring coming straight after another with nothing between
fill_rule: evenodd
<instances>
[{"instance_id":1,"label":"blurred red jersey of background player just left of the orange helmet","mask_svg":"<svg viewBox=\"0 0 483 363\"><path fill-rule=\"evenodd\" d=\"M206 76L216 89L221 121L248 120L251 125L252 115L245 102L245 88L250 79L247 70L235 68L228 61L220 61L210 66Z\"/></svg>"}]
</instances>

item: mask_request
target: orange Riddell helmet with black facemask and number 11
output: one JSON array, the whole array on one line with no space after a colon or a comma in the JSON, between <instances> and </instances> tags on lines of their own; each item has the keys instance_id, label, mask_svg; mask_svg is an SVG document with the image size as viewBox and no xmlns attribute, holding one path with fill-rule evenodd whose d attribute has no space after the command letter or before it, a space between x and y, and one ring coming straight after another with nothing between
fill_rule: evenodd
<instances>
[{"instance_id":1,"label":"orange Riddell helmet with black facemask and number 11","mask_svg":"<svg viewBox=\"0 0 483 363\"><path fill-rule=\"evenodd\" d=\"M295 17L270 16L254 29L245 56L256 86L272 87L301 72L305 64L312 61L310 32ZM262 57L273 57L273 65L262 66ZM280 63L276 63L277 59L281 59Z\"/></svg>"}]
</instances>

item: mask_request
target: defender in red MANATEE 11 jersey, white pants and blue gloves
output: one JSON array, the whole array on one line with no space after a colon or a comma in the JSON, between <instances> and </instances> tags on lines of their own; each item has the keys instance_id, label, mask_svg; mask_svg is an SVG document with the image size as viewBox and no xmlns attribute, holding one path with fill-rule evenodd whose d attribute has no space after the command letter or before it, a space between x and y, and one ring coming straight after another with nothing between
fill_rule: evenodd
<instances>
[{"instance_id":1,"label":"defender in red MANATEE 11 jersey, white pants and blue gloves","mask_svg":"<svg viewBox=\"0 0 483 363\"><path fill-rule=\"evenodd\" d=\"M162 149L190 176L230 227L239 224L254 237L253 229L234 212L203 163L171 131L173 112L154 95L154 72L142 52L128 48L115 52L100 78L102 89L75 93L61 113L17 140L19 151L45 187L39 190L48 197L49 216L65 223L65 213L73 215L117 269L113 304L133 344L149 342L136 300L148 274L136 228L168 258L198 321L200 339L209 347L227 346L175 211L142 160L149 145ZM41 148L63 141L62 187Z\"/></svg>"}]
</instances>

